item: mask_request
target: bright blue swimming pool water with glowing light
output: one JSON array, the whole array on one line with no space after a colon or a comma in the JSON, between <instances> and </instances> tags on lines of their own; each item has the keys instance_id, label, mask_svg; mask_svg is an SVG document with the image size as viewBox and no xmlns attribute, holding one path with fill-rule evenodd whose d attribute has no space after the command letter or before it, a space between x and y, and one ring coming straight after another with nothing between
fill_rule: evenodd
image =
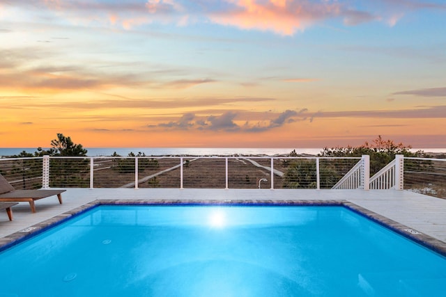
<instances>
[{"instance_id":1,"label":"bright blue swimming pool water with glowing light","mask_svg":"<svg viewBox=\"0 0 446 297\"><path fill-rule=\"evenodd\" d=\"M100 206L0 253L0 296L444 296L446 259L344 207Z\"/></svg>"}]
</instances>

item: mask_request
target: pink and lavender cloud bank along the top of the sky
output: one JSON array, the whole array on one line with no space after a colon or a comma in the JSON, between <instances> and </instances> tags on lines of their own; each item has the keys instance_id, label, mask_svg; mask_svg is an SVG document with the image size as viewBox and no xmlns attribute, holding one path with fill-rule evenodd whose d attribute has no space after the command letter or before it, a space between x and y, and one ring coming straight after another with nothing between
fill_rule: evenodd
<instances>
[{"instance_id":1,"label":"pink and lavender cloud bank along the top of the sky","mask_svg":"<svg viewBox=\"0 0 446 297\"><path fill-rule=\"evenodd\" d=\"M186 26L213 22L243 30L293 35L339 19L345 26L385 22L394 26L413 10L446 10L445 3L421 0L16 0L15 6L46 8L72 22L100 22L133 29L159 22Z\"/></svg>"}]
</instances>

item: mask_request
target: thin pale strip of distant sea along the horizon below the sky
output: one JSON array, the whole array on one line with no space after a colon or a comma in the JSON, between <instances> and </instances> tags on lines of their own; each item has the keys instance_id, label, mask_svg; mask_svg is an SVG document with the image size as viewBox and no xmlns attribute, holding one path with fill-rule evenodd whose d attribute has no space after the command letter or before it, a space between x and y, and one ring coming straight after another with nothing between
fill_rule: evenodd
<instances>
[{"instance_id":1,"label":"thin pale strip of distant sea along the horizon below the sky","mask_svg":"<svg viewBox=\"0 0 446 297\"><path fill-rule=\"evenodd\" d=\"M234 154L242 155L267 155L275 156L279 154L289 154L295 150L298 154L320 153L322 148L220 148L220 147L85 147L87 156L111 156L116 152L121 156L128 156L130 152L138 154L138 152L146 154L146 156L232 156ZM48 150L48 148L43 148ZM411 151L423 150L424 152L445 153L446 148L414 148ZM2 147L0 148L0 156L13 156L20 152L36 152L33 147Z\"/></svg>"}]
</instances>

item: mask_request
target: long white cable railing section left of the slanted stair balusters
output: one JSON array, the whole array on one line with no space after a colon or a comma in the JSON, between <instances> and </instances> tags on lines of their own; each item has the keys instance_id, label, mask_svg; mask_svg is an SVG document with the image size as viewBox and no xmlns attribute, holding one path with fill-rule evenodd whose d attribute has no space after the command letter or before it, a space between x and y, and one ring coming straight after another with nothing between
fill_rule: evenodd
<instances>
[{"instance_id":1,"label":"long white cable railing section left of the slanted stair balusters","mask_svg":"<svg viewBox=\"0 0 446 297\"><path fill-rule=\"evenodd\" d=\"M260 186L270 189L324 189L332 188L355 166L358 159L287 156L44 156L0 159L0 172L8 180L16 181L13 184L16 188ZM351 188L357 186L352 184Z\"/></svg>"}]
</instances>

